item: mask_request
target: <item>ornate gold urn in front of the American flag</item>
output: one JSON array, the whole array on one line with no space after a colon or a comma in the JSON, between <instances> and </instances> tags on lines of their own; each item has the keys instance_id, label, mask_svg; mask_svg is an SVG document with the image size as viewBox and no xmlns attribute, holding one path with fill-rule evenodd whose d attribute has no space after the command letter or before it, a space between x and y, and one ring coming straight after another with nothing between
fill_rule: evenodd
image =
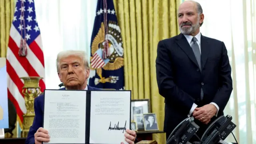
<instances>
[{"instance_id":1,"label":"ornate gold urn in front of the American flag","mask_svg":"<svg viewBox=\"0 0 256 144\"><path fill-rule=\"evenodd\" d=\"M22 93L24 94L25 105L27 112L23 115L23 129L21 133L22 138L28 136L30 126L33 124L35 112L34 112L34 100L41 93L39 87L39 80L41 77L31 76L22 77L24 80L24 86L22 87Z\"/></svg>"}]
</instances>

